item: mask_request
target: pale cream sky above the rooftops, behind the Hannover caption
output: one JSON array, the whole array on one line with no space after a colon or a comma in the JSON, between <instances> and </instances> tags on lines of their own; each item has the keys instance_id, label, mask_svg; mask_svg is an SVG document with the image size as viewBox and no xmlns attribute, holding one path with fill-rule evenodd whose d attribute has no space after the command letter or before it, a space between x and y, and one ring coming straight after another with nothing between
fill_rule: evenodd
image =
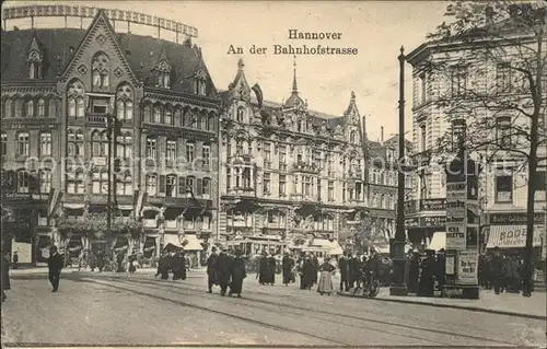
<instances>
[{"instance_id":1,"label":"pale cream sky above the rooftops, behind the Hannover caption","mask_svg":"<svg viewBox=\"0 0 547 349\"><path fill-rule=\"evenodd\" d=\"M46 1L7 1L3 5L33 3L49 4ZM55 3L90 5L88 1ZM228 89L237 71L237 60L242 58L247 82L251 85L258 83L264 98L278 103L286 101L291 93L294 57L274 55L275 44L354 47L359 50L354 56L298 56L298 88L311 109L331 115L342 115L353 91L360 114L366 116L368 135L376 140L381 127L384 127L384 138L398 131L397 56L400 46L410 53L422 44L427 33L443 22L446 2L96 1L93 5L137 11L197 27L198 37L194 43L201 47L217 89ZM47 21L50 20L36 19L35 24L40 27L53 25ZM8 30L12 25L24 28L24 23L30 25L30 20L10 21ZM155 30L133 25L131 28L135 34L156 35ZM290 40L289 30L342 34L338 40ZM167 36L166 33L161 35ZM229 54L231 45L242 47L244 54ZM253 45L266 47L267 54L249 54ZM410 79L411 67L406 65L408 131L411 130Z\"/></svg>"}]
</instances>

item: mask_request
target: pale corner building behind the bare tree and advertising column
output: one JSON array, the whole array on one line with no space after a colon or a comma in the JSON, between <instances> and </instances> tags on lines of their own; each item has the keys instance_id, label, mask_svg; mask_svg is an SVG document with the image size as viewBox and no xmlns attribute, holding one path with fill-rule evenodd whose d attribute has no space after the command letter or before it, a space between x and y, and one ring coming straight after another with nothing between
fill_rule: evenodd
<instances>
[{"instance_id":1,"label":"pale corner building behind the bare tree and advertising column","mask_svg":"<svg viewBox=\"0 0 547 349\"><path fill-rule=\"evenodd\" d=\"M515 70L508 69L504 63L524 59L520 55L529 47L534 48L535 38L529 33L519 33L512 27L513 18L503 23L491 23L492 15L488 11L487 9L485 13L485 22L496 31L496 45L499 45L491 48L494 53L492 56L500 55L494 56L496 59L480 59L482 56L476 54L477 50L474 51L473 46L458 40L426 43L407 56L407 60L412 65L412 160L417 168L414 174L416 189L412 191L412 199L406 202L406 226L408 236L415 244L428 245L435 233L445 232L446 179L445 167L438 161L439 140L452 138L454 154L462 132L479 135L479 131L470 130L476 127L470 124L472 120L480 118L493 120L492 128L485 127L480 131L480 135L484 135L481 139L476 136L466 139L489 144L474 149L469 154L477 160L487 160L479 175L482 247L503 244L499 240L503 235L525 236L528 185L536 186L537 225L534 246L540 246L540 240L545 240L546 163L539 161L536 178L529 178L527 167L523 165L526 163L525 158L516 153L519 150L529 152L529 146L528 149L520 149L526 142L526 135L516 135L517 131L511 126L529 125L526 124L529 118L507 104L508 101L523 101L527 97L526 93L529 94L529 89L523 89L522 77L520 78ZM511 15L517 15L517 10L509 12ZM485 47L489 47L488 45L491 44L484 44ZM505 47L503 55L500 54L501 50L496 50L501 46ZM472 57L473 53L475 57ZM444 68L432 70L432 66ZM485 105L489 107L484 107ZM500 108L494 109L496 105ZM459 110L454 106L465 107ZM524 107L525 113L532 112L528 107L529 105ZM545 114L540 117L540 125L544 118ZM472 137L475 139L472 140ZM545 142L545 131L540 131L539 137ZM515 141L515 138L520 140ZM446 151L446 148L442 151ZM545 153L545 147L539 147L538 156L543 158ZM524 239L521 239L520 245L513 247L524 247L523 242ZM435 248L439 247L442 246L435 245Z\"/></svg>"}]
</instances>

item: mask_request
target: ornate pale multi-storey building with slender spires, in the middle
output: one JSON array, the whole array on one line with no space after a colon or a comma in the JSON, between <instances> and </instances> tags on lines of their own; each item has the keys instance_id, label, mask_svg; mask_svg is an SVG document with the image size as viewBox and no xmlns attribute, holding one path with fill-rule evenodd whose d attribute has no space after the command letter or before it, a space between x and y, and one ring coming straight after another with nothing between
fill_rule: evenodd
<instances>
[{"instance_id":1,"label":"ornate pale multi-storey building with slender spires, in the middle","mask_svg":"<svg viewBox=\"0 0 547 349\"><path fill-rule=\"evenodd\" d=\"M340 232L351 236L365 216L388 237L396 179L384 174L384 165L396 153L391 146L369 147L356 95L341 116L312 110L298 91L294 69L284 103L261 98L240 60L233 82L221 93L219 240L263 239L248 253L267 249L269 240L313 249L338 241ZM372 154L381 163L365 161Z\"/></svg>"}]
</instances>

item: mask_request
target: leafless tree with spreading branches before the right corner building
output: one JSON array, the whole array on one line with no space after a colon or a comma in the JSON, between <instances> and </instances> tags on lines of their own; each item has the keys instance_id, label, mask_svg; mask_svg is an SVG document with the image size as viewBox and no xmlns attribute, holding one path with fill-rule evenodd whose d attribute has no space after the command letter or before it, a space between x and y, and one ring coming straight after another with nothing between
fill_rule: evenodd
<instances>
[{"instance_id":1,"label":"leafless tree with spreading branches before the right corner building","mask_svg":"<svg viewBox=\"0 0 547 349\"><path fill-rule=\"evenodd\" d=\"M545 185L537 167L547 161L546 13L539 2L456 1L446 8L450 24L428 36L435 47L427 67L439 86L434 103L451 123L437 150L454 153L463 146L480 159L479 171L508 159L526 170L524 295L532 290L534 198Z\"/></svg>"}]
</instances>

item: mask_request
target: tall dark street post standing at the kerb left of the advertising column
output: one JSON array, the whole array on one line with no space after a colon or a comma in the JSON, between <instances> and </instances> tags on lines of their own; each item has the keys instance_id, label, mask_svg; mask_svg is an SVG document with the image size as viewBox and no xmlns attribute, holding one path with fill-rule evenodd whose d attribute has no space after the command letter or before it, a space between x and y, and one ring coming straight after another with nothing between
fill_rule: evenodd
<instances>
[{"instance_id":1,"label":"tall dark street post standing at the kerb left of the advertising column","mask_svg":"<svg viewBox=\"0 0 547 349\"><path fill-rule=\"evenodd\" d=\"M397 174L397 229L391 244L393 256L393 279L389 284L391 295L408 295L405 283L405 60L404 48L400 47L399 60L399 161Z\"/></svg>"}]
</instances>

